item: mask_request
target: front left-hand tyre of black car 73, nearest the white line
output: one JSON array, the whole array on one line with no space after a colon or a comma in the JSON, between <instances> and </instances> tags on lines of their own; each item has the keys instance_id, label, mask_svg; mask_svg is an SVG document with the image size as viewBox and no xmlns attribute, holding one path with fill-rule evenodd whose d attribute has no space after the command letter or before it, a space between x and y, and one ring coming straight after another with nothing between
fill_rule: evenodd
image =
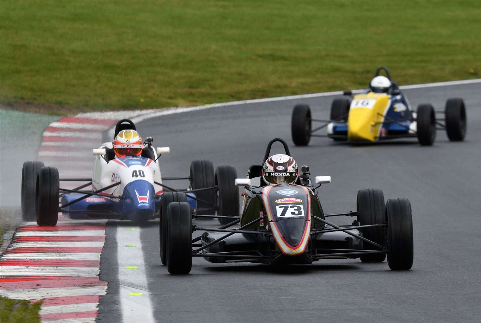
<instances>
[{"instance_id":1,"label":"front left-hand tyre of black car 73, nearest the white line","mask_svg":"<svg viewBox=\"0 0 481 323\"><path fill-rule=\"evenodd\" d=\"M192 216L187 202L167 206L167 271L187 274L192 269Z\"/></svg>"}]
</instances>

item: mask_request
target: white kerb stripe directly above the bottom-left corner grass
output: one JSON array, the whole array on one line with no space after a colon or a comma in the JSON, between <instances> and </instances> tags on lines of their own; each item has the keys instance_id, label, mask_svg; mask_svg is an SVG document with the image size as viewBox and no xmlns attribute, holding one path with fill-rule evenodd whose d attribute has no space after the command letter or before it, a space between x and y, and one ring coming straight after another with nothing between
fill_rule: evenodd
<instances>
[{"instance_id":1,"label":"white kerb stripe directly above the bottom-left corner grass","mask_svg":"<svg viewBox=\"0 0 481 323\"><path fill-rule=\"evenodd\" d=\"M15 299L40 299L48 297L105 295L106 290L107 286L0 289L0 296ZM153 320L151 322L153 322Z\"/></svg>"}]
</instances>

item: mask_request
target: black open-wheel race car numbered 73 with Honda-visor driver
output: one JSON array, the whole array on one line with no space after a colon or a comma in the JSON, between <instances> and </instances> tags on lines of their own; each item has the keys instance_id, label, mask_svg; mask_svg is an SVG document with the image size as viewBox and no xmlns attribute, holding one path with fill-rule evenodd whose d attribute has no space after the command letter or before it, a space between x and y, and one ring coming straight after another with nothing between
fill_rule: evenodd
<instances>
[{"instance_id":1,"label":"black open-wheel race car numbered 73 with Honda-visor driver","mask_svg":"<svg viewBox=\"0 0 481 323\"><path fill-rule=\"evenodd\" d=\"M271 146L280 142L285 155L270 156ZM381 262L388 258L392 270L408 270L413 263L411 205L407 199L389 199L378 189L357 194L357 210L325 214L316 190L330 176L311 182L309 168L297 165L283 140L267 145L264 166L253 165L247 178L236 179L245 186L240 217L219 228L192 225L190 205L184 193L163 200L163 225L167 270L189 273L192 257L214 263L254 262L263 264L310 264L326 258L361 258ZM295 166L294 166L295 165ZM167 201L172 201L164 205ZM232 210L231 215L236 215ZM354 217L351 225L336 225L327 218ZM239 223L239 228L230 228ZM205 231L192 239L192 232Z\"/></svg>"}]
</instances>

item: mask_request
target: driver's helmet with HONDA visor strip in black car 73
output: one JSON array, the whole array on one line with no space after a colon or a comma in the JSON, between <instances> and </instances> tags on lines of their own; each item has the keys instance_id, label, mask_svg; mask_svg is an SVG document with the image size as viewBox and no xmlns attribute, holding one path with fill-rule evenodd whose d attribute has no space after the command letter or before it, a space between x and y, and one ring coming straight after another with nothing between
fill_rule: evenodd
<instances>
[{"instance_id":1,"label":"driver's helmet with HONDA visor strip in black car 73","mask_svg":"<svg viewBox=\"0 0 481 323\"><path fill-rule=\"evenodd\" d=\"M278 184L281 181L294 183L298 176L296 161L288 155L272 155L267 158L262 168L262 178L269 185Z\"/></svg>"}]
</instances>

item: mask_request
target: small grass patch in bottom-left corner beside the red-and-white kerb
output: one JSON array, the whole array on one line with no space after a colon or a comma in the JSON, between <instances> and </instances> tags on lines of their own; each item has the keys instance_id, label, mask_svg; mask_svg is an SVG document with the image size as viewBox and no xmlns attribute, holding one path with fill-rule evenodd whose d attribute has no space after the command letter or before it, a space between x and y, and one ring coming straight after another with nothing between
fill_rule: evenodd
<instances>
[{"instance_id":1,"label":"small grass patch in bottom-left corner beside the red-and-white kerb","mask_svg":"<svg viewBox=\"0 0 481 323\"><path fill-rule=\"evenodd\" d=\"M0 322L36 323L40 322L38 311L42 302L30 304L29 300L10 299L0 296Z\"/></svg>"}]
</instances>

